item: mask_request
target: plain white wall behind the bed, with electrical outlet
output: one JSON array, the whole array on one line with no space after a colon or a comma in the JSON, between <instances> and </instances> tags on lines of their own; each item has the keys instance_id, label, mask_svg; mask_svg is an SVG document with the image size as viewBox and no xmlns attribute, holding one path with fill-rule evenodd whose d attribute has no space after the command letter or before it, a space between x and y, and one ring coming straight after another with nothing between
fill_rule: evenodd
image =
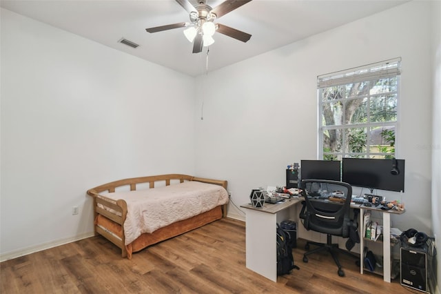
<instances>
[{"instance_id":1,"label":"plain white wall behind the bed, with electrical outlet","mask_svg":"<svg viewBox=\"0 0 441 294\"><path fill-rule=\"evenodd\" d=\"M89 188L194 174L194 90L192 77L1 9L1 260L92 235Z\"/></svg>"}]
</instances>

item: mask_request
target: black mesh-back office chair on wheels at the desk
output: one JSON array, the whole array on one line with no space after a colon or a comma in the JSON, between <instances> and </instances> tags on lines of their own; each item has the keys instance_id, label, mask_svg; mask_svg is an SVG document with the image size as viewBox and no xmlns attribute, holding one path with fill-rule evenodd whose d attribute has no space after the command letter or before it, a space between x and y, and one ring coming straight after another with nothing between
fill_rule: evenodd
<instances>
[{"instance_id":1,"label":"black mesh-back office chair on wheels at the desk","mask_svg":"<svg viewBox=\"0 0 441 294\"><path fill-rule=\"evenodd\" d=\"M303 219L303 226L309 231L316 231L327 234L327 243L307 242L319 246L314 250L307 251L303 255L303 262L308 262L308 255L319 251L329 251L338 266L338 275L343 277L345 272L337 258L337 252L345 253L352 257L348 251L338 248L338 244L332 244L332 236L349 237L349 226L356 226L352 222L349 213L351 206L352 188L345 182L327 181L322 179L304 179L301 182L302 202L300 219ZM327 197L330 197L327 199ZM334 201L331 201L331 200Z\"/></svg>"}]
</instances>

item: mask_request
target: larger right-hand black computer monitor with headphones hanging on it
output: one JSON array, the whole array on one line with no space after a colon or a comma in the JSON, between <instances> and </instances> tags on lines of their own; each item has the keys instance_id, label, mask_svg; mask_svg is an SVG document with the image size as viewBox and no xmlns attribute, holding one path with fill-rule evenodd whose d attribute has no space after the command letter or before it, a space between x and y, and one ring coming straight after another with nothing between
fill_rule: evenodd
<instances>
[{"instance_id":1,"label":"larger right-hand black computer monitor with headphones hanging on it","mask_svg":"<svg viewBox=\"0 0 441 294\"><path fill-rule=\"evenodd\" d=\"M371 190L404 192L404 159L343 158L342 182Z\"/></svg>"}]
</instances>

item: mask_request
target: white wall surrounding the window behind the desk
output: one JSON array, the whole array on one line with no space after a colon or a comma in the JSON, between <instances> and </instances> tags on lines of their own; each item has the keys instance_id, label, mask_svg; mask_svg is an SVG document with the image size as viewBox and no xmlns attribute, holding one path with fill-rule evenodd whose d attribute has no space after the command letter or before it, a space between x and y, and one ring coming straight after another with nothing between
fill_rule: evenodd
<instances>
[{"instance_id":1,"label":"white wall surrounding the window behind the desk","mask_svg":"<svg viewBox=\"0 0 441 294\"><path fill-rule=\"evenodd\" d=\"M402 57L396 139L405 193L380 192L406 204L393 226L433 233L432 4L406 3L198 77L196 111L204 101L204 119L196 123L196 172L228 179L237 206L252 188L285 185L288 164L317 158L317 76ZM245 219L232 205L229 215Z\"/></svg>"}]
</instances>

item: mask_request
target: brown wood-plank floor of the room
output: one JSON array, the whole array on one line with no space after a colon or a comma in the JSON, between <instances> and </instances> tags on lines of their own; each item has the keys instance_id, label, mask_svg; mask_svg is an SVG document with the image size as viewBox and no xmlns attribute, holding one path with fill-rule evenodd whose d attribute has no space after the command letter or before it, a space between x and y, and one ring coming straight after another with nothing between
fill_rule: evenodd
<instances>
[{"instance_id":1,"label":"brown wood-plank floor of the room","mask_svg":"<svg viewBox=\"0 0 441 294\"><path fill-rule=\"evenodd\" d=\"M221 219L121 258L103 237L90 237L0 264L0 293L409 293L397 280L360 275L353 259L316 254L300 270L267 280L245 267L245 223ZM259 246L256 244L256 246ZM265 250L262 251L265 254Z\"/></svg>"}]
</instances>

